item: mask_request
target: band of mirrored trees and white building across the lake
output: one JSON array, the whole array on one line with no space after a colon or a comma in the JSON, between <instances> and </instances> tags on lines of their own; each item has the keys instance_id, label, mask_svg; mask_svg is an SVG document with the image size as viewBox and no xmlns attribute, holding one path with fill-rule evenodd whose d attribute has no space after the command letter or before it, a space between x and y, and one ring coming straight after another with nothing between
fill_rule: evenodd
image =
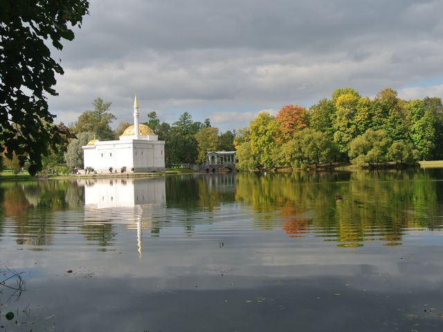
<instances>
[{"instance_id":1,"label":"band of mirrored trees and white building across the lake","mask_svg":"<svg viewBox=\"0 0 443 332\"><path fill-rule=\"evenodd\" d=\"M0 241L48 246L78 232L107 250L118 228L150 237L280 232L337 246L403 243L443 220L442 169L0 183ZM336 194L343 200L336 200ZM109 248L108 248L109 249Z\"/></svg>"}]
</instances>

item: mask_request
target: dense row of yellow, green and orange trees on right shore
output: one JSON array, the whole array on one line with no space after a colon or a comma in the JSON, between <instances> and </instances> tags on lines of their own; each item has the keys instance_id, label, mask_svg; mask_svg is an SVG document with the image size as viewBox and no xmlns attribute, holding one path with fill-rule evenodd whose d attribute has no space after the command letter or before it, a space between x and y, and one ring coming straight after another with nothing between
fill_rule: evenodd
<instances>
[{"instance_id":1,"label":"dense row of yellow, green and orange trees on right shore","mask_svg":"<svg viewBox=\"0 0 443 332\"><path fill-rule=\"evenodd\" d=\"M283 107L260 113L235 136L237 168L278 169L350 161L379 167L443 158L440 98L401 100L384 89L374 99L337 89L308 109Z\"/></svg>"}]
</instances>

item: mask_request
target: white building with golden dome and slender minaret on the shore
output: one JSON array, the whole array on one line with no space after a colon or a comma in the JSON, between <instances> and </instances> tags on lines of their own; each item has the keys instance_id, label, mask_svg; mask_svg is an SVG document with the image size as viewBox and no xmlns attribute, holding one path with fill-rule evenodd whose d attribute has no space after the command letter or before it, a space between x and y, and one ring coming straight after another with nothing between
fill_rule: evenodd
<instances>
[{"instance_id":1,"label":"white building with golden dome and slender minaret on the shore","mask_svg":"<svg viewBox=\"0 0 443 332\"><path fill-rule=\"evenodd\" d=\"M91 140L82 147L84 168L96 172L161 172L165 170L165 141L150 127L138 122L138 101L134 100L134 124L119 140Z\"/></svg>"}]
</instances>

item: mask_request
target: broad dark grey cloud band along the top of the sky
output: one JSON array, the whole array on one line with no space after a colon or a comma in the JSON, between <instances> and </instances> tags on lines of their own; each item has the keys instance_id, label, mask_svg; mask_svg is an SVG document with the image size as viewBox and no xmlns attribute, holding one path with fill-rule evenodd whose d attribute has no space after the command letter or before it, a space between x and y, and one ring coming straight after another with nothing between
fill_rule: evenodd
<instances>
[{"instance_id":1,"label":"broad dark grey cloud band along the top of the sky","mask_svg":"<svg viewBox=\"0 0 443 332\"><path fill-rule=\"evenodd\" d=\"M371 37L429 35L442 9L436 1L399 0L96 1L78 33L77 55L101 59L146 48L352 48Z\"/></svg>"}]
</instances>

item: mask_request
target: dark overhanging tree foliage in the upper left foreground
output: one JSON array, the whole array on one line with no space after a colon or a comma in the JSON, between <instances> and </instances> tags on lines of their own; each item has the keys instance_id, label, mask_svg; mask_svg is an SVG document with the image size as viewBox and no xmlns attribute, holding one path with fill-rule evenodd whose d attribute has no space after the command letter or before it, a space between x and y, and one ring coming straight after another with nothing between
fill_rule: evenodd
<instances>
[{"instance_id":1,"label":"dark overhanging tree foliage in the upper left foreground","mask_svg":"<svg viewBox=\"0 0 443 332\"><path fill-rule=\"evenodd\" d=\"M46 95L57 95L55 74L64 72L46 39L62 50L62 39L74 39L71 27L81 25L88 8L87 0L0 1L0 142L21 165L29 156L30 174L61 140Z\"/></svg>"}]
</instances>

